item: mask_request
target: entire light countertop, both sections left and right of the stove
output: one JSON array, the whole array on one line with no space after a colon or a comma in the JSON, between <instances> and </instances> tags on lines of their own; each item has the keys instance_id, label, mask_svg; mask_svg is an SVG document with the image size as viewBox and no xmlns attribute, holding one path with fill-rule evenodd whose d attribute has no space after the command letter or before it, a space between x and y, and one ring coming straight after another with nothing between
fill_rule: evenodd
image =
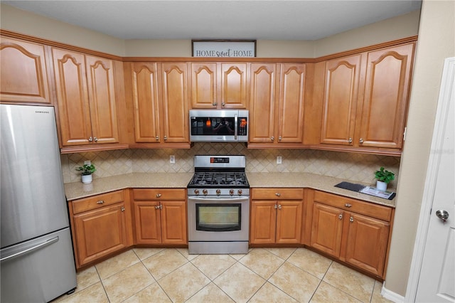
<instances>
[{"instance_id":1,"label":"entire light countertop, both sections left and right of the stove","mask_svg":"<svg viewBox=\"0 0 455 303\"><path fill-rule=\"evenodd\" d=\"M74 182L65 184L65 193L68 200L85 198L100 193L116 191L124 188L186 188L193 173L134 173L109 176L106 178L94 179L91 184ZM365 193L348 191L347 189L335 187L342 181L355 184L360 182L337 179L329 176L320 176L308 173L247 173L247 179L251 188L261 187L299 187L314 188L319 191L335 193L348 198L356 198L363 201L395 207L395 199L387 200L370 196ZM373 184L363 184L372 186ZM390 191L395 191L390 188Z\"/></svg>"}]
</instances>

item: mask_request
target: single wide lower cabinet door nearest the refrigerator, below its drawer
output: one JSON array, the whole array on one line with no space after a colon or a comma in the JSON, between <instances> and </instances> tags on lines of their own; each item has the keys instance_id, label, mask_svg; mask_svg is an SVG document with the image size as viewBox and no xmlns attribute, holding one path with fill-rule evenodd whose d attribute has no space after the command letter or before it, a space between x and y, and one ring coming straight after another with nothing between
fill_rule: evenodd
<instances>
[{"instance_id":1,"label":"single wide lower cabinet door nearest the refrigerator, below its drawer","mask_svg":"<svg viewBox=\"0 0 455 303\"><path fill-rule=\"evenodd\" d=\"M74 216L79 265L127 248L124 203Z\"/></svg>"}]
</instances>

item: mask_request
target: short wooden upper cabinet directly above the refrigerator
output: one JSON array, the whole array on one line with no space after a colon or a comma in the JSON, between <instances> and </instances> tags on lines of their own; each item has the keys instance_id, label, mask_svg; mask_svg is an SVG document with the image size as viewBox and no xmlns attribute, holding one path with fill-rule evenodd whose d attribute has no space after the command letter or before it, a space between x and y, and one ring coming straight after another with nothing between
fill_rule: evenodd
<instances>
[{"instance_id":1,"label":"short wooden upper cabinet directly above the refrigerator","mask_svg":"<svg viewBox=\"0 0 455 303\"><path fill-rule=\"evenodd\" d=\"M50 105L46 46L1 37L0 100Z\"/></svg>"}]
</instances>

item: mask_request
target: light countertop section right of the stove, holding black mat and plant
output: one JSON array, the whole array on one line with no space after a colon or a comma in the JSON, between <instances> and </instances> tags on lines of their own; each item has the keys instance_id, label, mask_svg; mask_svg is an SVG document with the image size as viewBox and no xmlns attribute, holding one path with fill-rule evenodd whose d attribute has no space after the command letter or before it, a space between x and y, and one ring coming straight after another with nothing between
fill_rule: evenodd
<instances>
[{"instance_id":1,"label":"light countertop section right of the stove, holding black mat and plant","mask_svg":"<svg viewBox=\"0 0 455 303\"><path fill-rule=\"evenodd\" d=\"M347 189L335 187L336 184L348 181L346 179L338 179L330 176L320 176L308 173L247 173L247 179L251 188L264 188L264 187L301 187L313 188L319 191L326 191L328 193L335 193L340 196L348 198L355 198L362 201L381 204L395 208L395 200L387 200L385 198L378 198L370 196L365 193L358 193L355 191L348 191ZM355 184L363 184L362 182L350 181ZM371 184L363 184L371 186ZM395 188L390 188L395 191Z\"/></svg>"}]
</instances>

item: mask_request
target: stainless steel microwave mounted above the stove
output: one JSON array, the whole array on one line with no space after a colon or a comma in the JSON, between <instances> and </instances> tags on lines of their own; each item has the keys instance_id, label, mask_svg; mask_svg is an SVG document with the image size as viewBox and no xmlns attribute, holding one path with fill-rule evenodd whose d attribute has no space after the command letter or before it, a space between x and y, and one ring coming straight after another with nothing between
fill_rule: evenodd
<instances>
[{"instance_id":1,"label":"stainless steel microwave mounted above the stove","mask_svg":"<svg viewBox=\"0 0 455 303\"><path fill-rule=\"evenodd\" d=\"M190 110L191 142L247 142L247 110Z\"/></svg>"}]
</instances>

